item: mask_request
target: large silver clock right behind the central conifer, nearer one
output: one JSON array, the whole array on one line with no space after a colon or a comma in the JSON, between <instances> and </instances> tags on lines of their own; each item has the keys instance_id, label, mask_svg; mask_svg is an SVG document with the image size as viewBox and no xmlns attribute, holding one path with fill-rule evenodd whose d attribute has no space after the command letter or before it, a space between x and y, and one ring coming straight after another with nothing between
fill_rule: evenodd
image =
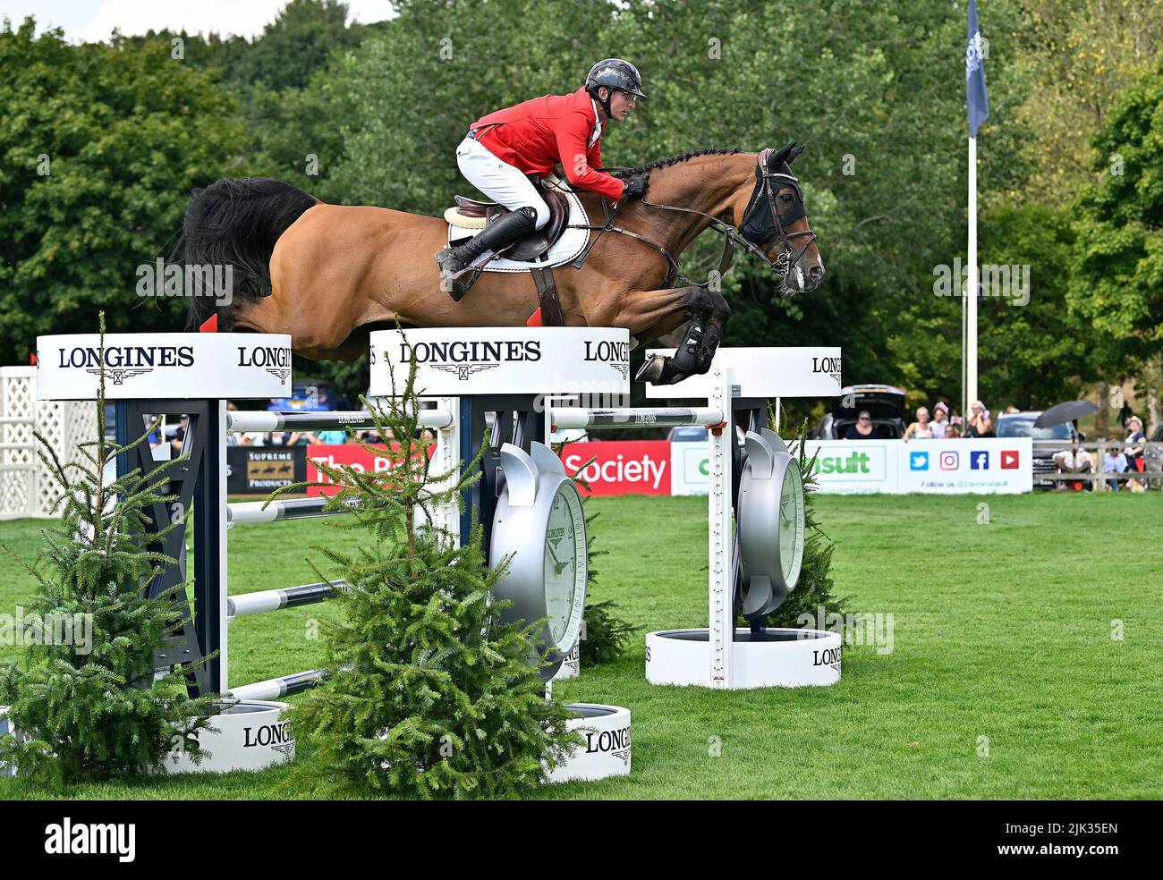
<instances>
[{"instance_id":1,"label":"large silver clock right behind the central conifer, nearer one","mask_svg":"<svg viewBox=\"0 0 1163 880\"><path fill-rule=\"evenodd\" d=\"M554 451L500 449L504 488L497 500L490 559L508 559L494 595L512 602L500 616L527 623L547 618L541 641L561 659L577 644L585 611L585 514L577 486Z\"/></svg>"}]
</instances>

